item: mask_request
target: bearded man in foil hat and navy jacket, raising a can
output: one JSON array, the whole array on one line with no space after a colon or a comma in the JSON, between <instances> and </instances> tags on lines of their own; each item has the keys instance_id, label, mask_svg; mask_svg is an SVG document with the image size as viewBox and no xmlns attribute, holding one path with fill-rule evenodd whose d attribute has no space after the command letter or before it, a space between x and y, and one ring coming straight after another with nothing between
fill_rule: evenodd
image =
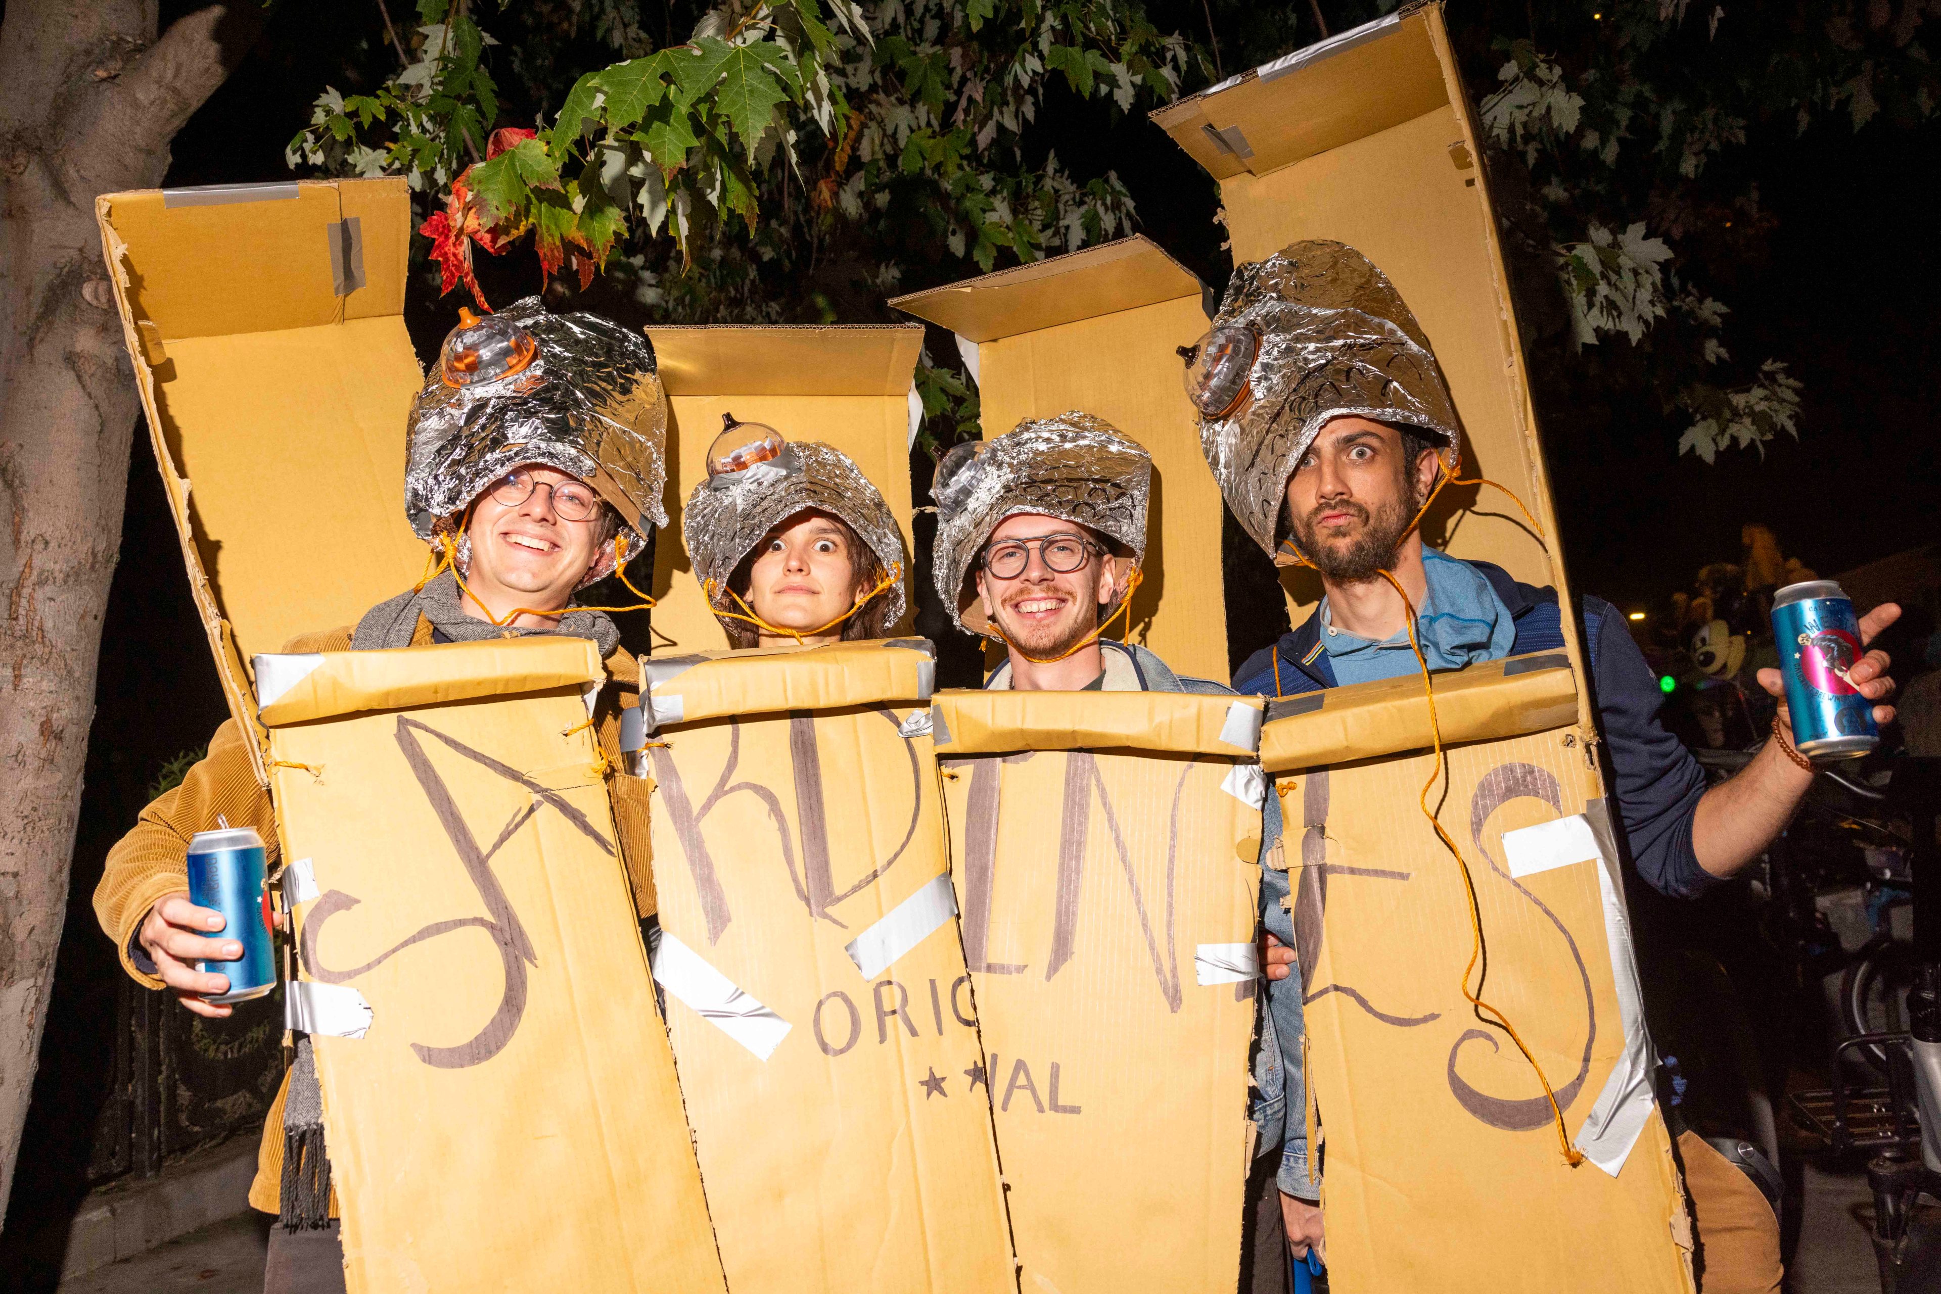
<instances>
[{"instance_id":1,"label":"bearded man in foil hat and navy jacket, raising a can","mask_svg":"<svg viewBox=\"0 0 1941 1294\"><path fill-rule=\"evenodd\" d=\"M1462 427L1442 371L1409 307L1382 272L1339 243L1297 243L1234 272L1213 330L1188 359L1188 392L1221 493L1277 565L1312 565L1324 598L1299 629L1234 673L1242 693L1293 696L1419 671L1409 609L1429 669L1561 650L1553 588L1520 584L1498 566L1452 559L1417 528L1440 475L1462 460ZM1394 582L1390 582L1390 576ZM1403 601L1403 594L1407 601ZM1729 782L1704 772L1658 724L1663 695L1607 601L1584 598L1580 640L1607 749L1623 832L1640 879L1696 896L1735 875L1780 834L1813 782L1792 749L1784 700L1772 741ZM1861 619L1871 640L1898 619L1883 605ZM1887 656L1869 652L1852 679L1887 700ZM1782 696L1780 673L1759 683ZM1891 706L1875 718L1892 720ZM1279 846L1281 811L1267 797L1262 857ZM1283 910L1287 871L1262 869L1269 933L1293 943ZM1297 1257L1322 1244L1320 1172L1308 1158L1300 1067L1300 978L1269 984L1283 1048L1279 1189ZM1780 1288L1778 1218L1700 1137L1679 1137L1698 1205L1706 1294Z\"/></svg>"}]
</instances>

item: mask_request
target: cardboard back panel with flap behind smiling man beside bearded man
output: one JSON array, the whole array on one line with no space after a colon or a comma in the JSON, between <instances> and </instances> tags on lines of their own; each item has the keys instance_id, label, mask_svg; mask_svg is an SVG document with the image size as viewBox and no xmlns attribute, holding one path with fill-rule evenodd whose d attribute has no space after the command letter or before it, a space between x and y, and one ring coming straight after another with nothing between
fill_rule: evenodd
<instances>
[{"instance_id":1,"label":"cardboard back panel with flap behind smiling man beside bearded man","mask_svg":"<svg viewBox=\"0 0 1941 1294\"><path fill-rule=\"evenodd\" d=\"M986 437L1083 409L1145 446L1153 499L1128 638L1180 673L1225 679L1223 508L1174 353L1207 330L1200 279L1134 237L891 305L978 343Z\"/></svg>"}]
</instances>

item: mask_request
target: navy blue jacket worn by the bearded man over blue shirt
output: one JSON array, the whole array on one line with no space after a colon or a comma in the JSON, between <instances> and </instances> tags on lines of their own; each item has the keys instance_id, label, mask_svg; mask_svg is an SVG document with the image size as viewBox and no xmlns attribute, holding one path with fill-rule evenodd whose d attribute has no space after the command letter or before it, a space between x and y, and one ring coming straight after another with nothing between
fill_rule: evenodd
<instances>
[{"instance_id":1,"label":"navy blue jacket worn by the bearded man over blue shirt","mask_svg":"<svg viewBox=\"0 0 1941 1294\"><path fill-rule=\"evenodd\" d=\"M1564 644L1557 590L1518 584L1500 566L1469 563L1481 570L1516 623L1510 656L1557 650ZM1611 790L1638 877L1654 890L1691 898L1716 885L1693 854L1693 815L1704 795L1704 770L1685 743L1658 722L1663 693L1644 654L1630 640L1625 617L1599 598L1584 598L1584 644L1590 654L1592 704L1603 731ZM1279 656L1279 689L1275 689ZM1320 617L1310 615L1271 648L1246 658L1233 675L1238 693L1299 696L1335 687L1333 667L1320 644Z\"/></svg>"}]
</instances>

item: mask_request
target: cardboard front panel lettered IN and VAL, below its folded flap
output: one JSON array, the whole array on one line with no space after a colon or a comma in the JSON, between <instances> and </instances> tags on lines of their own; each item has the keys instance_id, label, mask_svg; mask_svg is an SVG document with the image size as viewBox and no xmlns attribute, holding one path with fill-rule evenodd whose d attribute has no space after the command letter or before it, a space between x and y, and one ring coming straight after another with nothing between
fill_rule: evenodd
<instances>
[{"instance_id":1,"label":"cardboard front panel lettered IN and VAL, below its folded flap","mask_svg":"<svg viewBox=\"0 0 1941 1294\"><path fill-rule=\"evenodd\" d=\"M1258 807L1231 759L1040 741L943 782L1019 1288L1231 1294L1254 984L1201 986L1194 954L1254 937Z\"/></svg>"}]
</instances>

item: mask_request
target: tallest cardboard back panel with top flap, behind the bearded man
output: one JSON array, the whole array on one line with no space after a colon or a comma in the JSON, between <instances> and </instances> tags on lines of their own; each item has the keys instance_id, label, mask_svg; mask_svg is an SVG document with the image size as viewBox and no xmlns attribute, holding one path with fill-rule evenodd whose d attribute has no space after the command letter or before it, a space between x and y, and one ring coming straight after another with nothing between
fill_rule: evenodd
<instances>
[{"instance_id":1,"label":"tallest cardboard back panel with top flap, behind the bearded man","mask_svg":"<svg viewBox=\"0 0 1941 1294\"><path fill-rule=\"evenodd\" d=\"M1234 262L1262 260L1300 239L1335 239L1382 268L1448 376L1467 433L1464 475L1516 491L1549 535L1549 551L1516 504L1487 487L1446 489L1425 534L1446 535L1456 557L1564 590L1502 248L1477 165L1483 149L1442 8L1392 16L1366 35L1333 54L1300 50L1229 89L1163 109L1155 120L1219 177ZM1252 157L1221 151L1207 136L1207 128L1233 126ZM1287 582L1299 623L1320 584L1306 572Z\"/></svg>"}]
</instances>

